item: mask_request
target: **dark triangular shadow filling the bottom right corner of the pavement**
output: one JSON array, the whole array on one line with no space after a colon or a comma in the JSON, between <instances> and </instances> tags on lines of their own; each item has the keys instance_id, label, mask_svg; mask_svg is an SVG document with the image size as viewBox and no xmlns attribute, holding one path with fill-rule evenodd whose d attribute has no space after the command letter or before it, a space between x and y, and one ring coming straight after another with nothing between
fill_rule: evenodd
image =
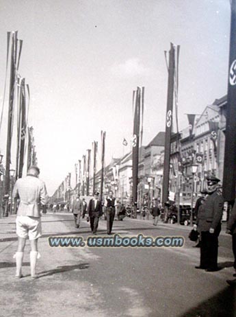
<instances>
[{"instance_id":1,"label":"dark triangular shadow filling the bottom right corner of the pavement","mask_svg":"<svg viewBox=\"0 0 236 317\"><path fill-rule=\"evenodd\" d=\"M178 317L236 317L236 287L226 287Z\"/></svg>"}]
</instances>

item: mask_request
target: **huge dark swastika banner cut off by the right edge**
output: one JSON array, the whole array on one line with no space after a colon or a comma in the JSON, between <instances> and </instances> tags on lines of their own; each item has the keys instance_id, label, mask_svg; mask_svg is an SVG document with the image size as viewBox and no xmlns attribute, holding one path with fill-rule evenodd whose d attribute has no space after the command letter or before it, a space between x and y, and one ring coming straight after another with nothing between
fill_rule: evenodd
<instances>
[{"instance_id":1,"label":"huge dark swastika banner cut off by the right edge","mask_svg":"<svg viewBox=\"0 0 236 317\"><path fill-rule=\"evenodd\" d=\"M236 0L231 1L231 40L228 66L228 97L224 148L224 200L233 204L236 180Z\"/></svg>"}]
</instances>

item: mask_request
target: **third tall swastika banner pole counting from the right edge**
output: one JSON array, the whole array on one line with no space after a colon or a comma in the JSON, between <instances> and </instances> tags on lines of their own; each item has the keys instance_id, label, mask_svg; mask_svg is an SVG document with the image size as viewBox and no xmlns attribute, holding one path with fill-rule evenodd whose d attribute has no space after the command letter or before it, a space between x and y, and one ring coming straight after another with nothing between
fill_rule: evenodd
<instances>
[{"instance_id":1,"label":"third tall swastika banner pole counting from the right edge","mask_svg":"<svg viewBox=\"0 0 236 317\"><path fill-rule=\"evenodd\" d=\"M132 151L132 159L133 159L133 169L132 169L132 178L133 178L133 208L134 208L134 216L136 218L137 215L137 177L138 177L138 160L139 160L139 145L140 145L140 98L141 91L140 87L137 87L137 91L135 94L135 113L133 118L133 151Z\"/></svg>"}]
</instances>

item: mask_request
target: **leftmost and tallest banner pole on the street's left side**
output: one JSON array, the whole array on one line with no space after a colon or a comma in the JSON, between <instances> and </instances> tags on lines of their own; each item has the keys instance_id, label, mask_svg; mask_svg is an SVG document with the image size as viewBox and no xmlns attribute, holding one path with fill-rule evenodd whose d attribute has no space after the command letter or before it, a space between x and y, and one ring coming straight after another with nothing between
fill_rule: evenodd
<instances>
[{"instance_id":1,"label":"leftmost and tallest banner pole on the street's left side","mask_svg":"<svg viewBox=\"0 0 236 317\"><path fill-rule=\"evenodd\" d=\"M10 87L9 87L9 107L8 107L8 139L5 159L5 211L4 216L8 217L8 198L10 193L10 163L11 163L11 148L12 148L12 126L13 126L13 111L14 111L14 95L16 83L16 50L17 50L17 32L11 33L12 48L11 48L11 63L10 63Z\"/></svg>"}]
</instances>

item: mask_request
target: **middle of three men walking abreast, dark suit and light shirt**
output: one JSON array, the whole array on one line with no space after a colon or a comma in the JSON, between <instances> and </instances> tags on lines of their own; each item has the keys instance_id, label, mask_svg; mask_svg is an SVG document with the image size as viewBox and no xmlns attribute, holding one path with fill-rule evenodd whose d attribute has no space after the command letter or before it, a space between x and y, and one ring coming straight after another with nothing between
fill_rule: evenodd
<instances>
[{"instance_id":1,"label":"middle of three men walking abreast, dark suit and light shirt","mask_svg":"<svg viewBox=\"0 0 236 317\"><path fill-rule=\"evenodd\" d=\"M92 233L96 235L99 226L99 218L103 215L101 200L99 200L99 192L94 193L94 198L88 203L88 215L90 217L90 228Z\"/></svg>"}]
</instances>

